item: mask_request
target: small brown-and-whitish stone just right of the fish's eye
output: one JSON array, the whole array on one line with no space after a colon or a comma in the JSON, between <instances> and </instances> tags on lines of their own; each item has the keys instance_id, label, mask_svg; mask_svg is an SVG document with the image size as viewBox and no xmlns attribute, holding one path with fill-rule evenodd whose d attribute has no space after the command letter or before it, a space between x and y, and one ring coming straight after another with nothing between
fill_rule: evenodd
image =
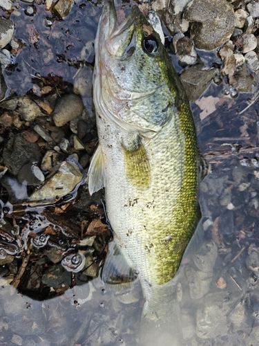
<instances>
[{"instance_id":1,"label":"small brown-and-whitish stone just right of the fish's eye","mask_svg":"<svg viewBox=\"0 0 259 346\"><path fill-rule=\"evenodd\" d=\"M193 65L197 61L197 53L194 49L193 42L182 33L173 37L173 46L175 53L180 57L181 66Z\"/></svg>"}]
</instances>

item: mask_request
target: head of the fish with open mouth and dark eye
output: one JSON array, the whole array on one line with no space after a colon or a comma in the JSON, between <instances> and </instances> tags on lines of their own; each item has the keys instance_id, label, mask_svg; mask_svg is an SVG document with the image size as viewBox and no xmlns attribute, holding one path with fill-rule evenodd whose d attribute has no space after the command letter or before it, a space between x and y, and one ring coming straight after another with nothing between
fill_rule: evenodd
<instances>
[{"instance_id":1,"label":"head of the fish with open mouth and dark eye","mask_svg":"<svg viewBox=\"0 0 259 346\"><path fill-rule=\"evenodd\" d=\"M172 116L175 75L160 35L140 9L133 6L119 25L113 0L106 0L95 39L97 112L128 131L156 133Z\"/></svg>"}]
</instances>

